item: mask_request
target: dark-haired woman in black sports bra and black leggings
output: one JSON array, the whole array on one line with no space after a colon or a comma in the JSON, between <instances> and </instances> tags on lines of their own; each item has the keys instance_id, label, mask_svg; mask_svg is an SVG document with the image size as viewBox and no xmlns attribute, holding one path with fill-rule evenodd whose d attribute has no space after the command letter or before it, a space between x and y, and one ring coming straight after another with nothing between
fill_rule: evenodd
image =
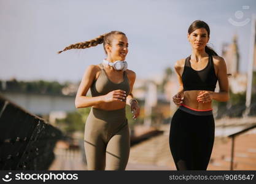
<instances>
[{"instance_id":1,"label":"dark-haired woman in black sports bra and black leggings","mask_svg":"<svg viewBox=\"0 0 256 184\"><path fill-rule=\"evenodd\" d=\"M192 54L176 62L180 88L173 96L179 106L171 121L169 146L177 170L206 170L214 144L212 100L228 101L227 67L206 44L209 26L196 20L188 28ZM220 91L215 91L219 82Z\"/></svg>"}]
</instances>

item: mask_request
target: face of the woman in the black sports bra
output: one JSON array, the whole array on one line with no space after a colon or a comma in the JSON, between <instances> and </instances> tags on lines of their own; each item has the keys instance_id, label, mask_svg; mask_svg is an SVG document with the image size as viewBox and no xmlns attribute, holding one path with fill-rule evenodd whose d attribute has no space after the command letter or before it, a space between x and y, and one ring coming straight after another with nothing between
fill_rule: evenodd
<instances>
[{"instance_id":1,"label":"face of the woman in the black sports bra","mask_svg":"<svg viewBox=\"0 0 256 184\"><path fill-rule=\"evenodd\" d=\"M209 36L204 28L195 29L192 33L188 34L188 41L192 48L196 50L202 50L209 41Z\"/></svg>"}]
</instances>

